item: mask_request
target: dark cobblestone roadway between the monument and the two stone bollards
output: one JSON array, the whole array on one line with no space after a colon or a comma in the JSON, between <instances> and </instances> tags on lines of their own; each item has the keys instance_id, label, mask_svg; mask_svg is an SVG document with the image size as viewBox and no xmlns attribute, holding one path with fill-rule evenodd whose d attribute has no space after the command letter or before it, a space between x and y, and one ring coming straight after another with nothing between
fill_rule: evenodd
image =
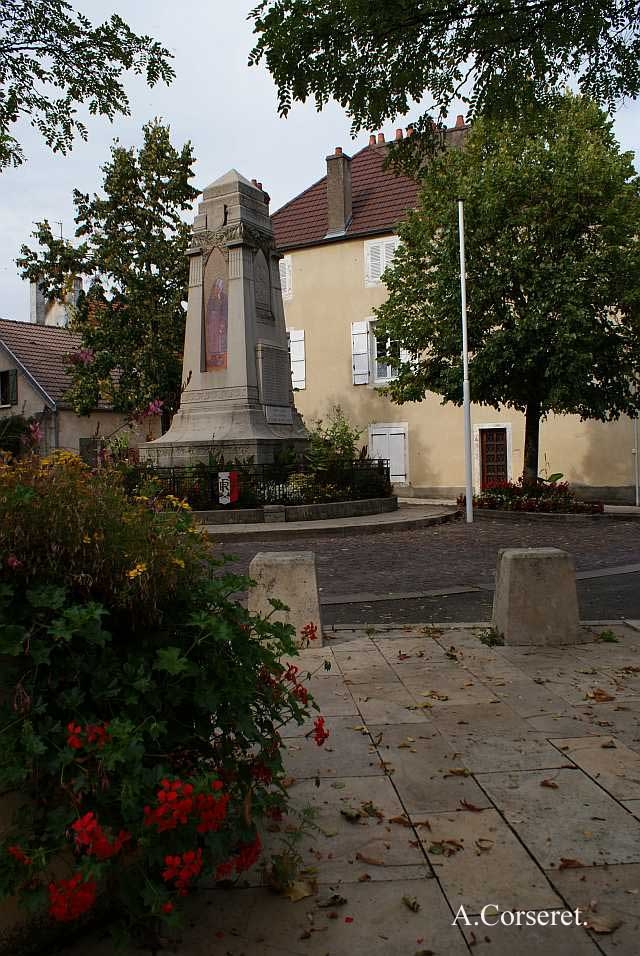
<instances>
[{"instance_id":1,"label":"dark cobblestone roadway between the monument and the two stone bollards","mask_svg":"<svg viewBox=\"0 0 640 956\"><path fill-rule=\"evenodd\" d=\"M315 551L324 595L424 591L491 584L499 548L555 547L573 554L578 570L640 563L640 522L457 520L435 527L350 537L233 541L217 544L244 571L258 551Z\"/></svg>"}]
</instances>

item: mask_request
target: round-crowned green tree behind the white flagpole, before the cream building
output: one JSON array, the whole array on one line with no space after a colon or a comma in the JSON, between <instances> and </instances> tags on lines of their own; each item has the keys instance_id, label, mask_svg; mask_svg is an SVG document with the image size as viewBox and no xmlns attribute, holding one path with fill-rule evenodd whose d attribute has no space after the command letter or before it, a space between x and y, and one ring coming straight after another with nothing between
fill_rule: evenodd
<instances>
[{"instance_id":1,"label":"round-crowned green tree behind the white flagpole, before the cream building","mask_svg":"<svg viewBox=\"0 0 640 956\"><path fill-rule=\"evenodd\" d=\"M385 273L376 336L395 401L462 401L457 200L467 224L473 401L525 413L524 477L551 412L601 421L640 410L640 178L593 101L566 95L543 126L487 119L423 170ZM561 466L561 463L560 467Z\"/></svg>"}]
</instances>

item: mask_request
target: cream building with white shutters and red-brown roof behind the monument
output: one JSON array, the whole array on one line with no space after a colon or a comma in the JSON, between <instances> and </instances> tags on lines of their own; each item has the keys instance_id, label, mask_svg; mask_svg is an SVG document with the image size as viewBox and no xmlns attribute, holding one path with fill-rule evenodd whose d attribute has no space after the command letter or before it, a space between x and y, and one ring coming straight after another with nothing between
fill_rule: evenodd
<instances>
[{"instance_id":1,"label":"cream building with white shutters and red-brown roof behind the monument","mask_svg":"<svg viewBox=\"0 0 640 956\"><path fill-rule=\"evenodd\" d=\"M464 128L459 117L452 136ZM416 198L411 180L383 169L386 151L380 135L352 159L337 149L327 175L273 215L295 401L307 423L340 405L369 454L390 460L396 490L451 497L464 488L462 409L433 394L395 405L378 391L391 369L378 359L386 343L376 341L373 309L386 297L380 276L396 248L396 225ZM475 488L517 479L524 416L474 406L472 426ZM633 423L550 416L541 425L540 472L562 472L589 497L632 502Z\"/></svg>"}]
</instances>

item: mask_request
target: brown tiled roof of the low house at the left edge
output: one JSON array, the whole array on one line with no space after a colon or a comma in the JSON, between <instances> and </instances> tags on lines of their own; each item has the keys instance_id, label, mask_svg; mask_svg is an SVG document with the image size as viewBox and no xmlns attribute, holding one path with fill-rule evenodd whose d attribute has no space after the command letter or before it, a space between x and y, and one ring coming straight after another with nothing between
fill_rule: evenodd
<instances>
[{"instance_id":1,"label":"brown tiled roof of the low house at the left edge","mask_svg":"<svg viewBox=\"0 0 640 956\"><path fill-rule=\"evenodd\" d=\"M15 355L56 405L64 404L71 384L65 371L67 355L80 347L80 336L53 325L0 319L0 345Z\"/></svg>"}]
</instances>

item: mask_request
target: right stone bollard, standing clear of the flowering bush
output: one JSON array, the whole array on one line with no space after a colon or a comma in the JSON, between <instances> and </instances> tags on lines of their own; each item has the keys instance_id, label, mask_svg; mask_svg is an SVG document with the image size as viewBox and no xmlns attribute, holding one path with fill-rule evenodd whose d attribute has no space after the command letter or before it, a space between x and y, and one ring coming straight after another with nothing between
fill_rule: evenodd
<instances>
[{"instance_id":1,"label":"right stone bollard, standing clear of the flowering bush","mask_svg":"<svg viewBox=\"0 0 640 956\"><path fill-rule=\"evenodd\" d=\"M575 644L580 625L571 555L559 548L500 550L492 624L505 644Z\"/></svg>"}]
</instances>

